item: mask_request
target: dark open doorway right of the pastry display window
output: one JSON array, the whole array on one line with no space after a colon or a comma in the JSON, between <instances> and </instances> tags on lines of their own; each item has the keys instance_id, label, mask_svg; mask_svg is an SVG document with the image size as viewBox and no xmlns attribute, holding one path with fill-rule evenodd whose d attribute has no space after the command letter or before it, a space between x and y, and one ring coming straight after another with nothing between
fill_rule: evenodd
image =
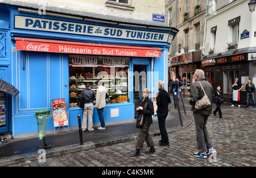
<instances>
[{"instance_id":1,"label":"dark open doorway right of the pastry display window","mask_svg":"<svg viewBox=\"0 0 256 178\"><path fill-rule=\"evenodd\" d=\"M133 101L135 110L139 100L142 99L142 91L147 88L148 65L133 65Z\"/></svg>"}]
</instances>

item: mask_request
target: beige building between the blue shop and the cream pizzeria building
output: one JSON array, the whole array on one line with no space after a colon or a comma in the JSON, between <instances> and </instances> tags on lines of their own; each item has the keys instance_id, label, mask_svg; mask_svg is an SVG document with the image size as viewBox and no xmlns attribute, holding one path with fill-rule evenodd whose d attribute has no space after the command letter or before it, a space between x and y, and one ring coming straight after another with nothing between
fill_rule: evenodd
<instances>
[{"instance_id":1,"label":"beige building between the blue shop and the cream pizzeria building","mask_svg":"<svg viewBox=\"0 0 256 178\"><path fill-rule=\"evenodd\" d=\"M169 53L169 82L179 78L190 94L193 72L201 69L206 1L167 1L167 25L179 29Z\"/></svg>"}]
</instances>

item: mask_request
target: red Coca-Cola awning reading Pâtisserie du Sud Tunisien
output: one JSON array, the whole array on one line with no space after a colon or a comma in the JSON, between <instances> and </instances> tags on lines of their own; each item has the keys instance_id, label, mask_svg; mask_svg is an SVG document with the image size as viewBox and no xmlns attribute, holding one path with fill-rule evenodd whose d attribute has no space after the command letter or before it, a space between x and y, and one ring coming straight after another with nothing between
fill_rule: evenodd
<instances>
[{"instance_id":1,"label":"red Coca-Cola awning reading P\u00e2tisserie du Sud Tunisien","mask_svg":"<svg viewBox=\"0 0 256 178\"><path fill-rule=\"evenodd\" d=\"M26 39L20 37L15 37L15 40L16 50L108 56L161 57L160 48Z\"/></svg>"}]
</instances>

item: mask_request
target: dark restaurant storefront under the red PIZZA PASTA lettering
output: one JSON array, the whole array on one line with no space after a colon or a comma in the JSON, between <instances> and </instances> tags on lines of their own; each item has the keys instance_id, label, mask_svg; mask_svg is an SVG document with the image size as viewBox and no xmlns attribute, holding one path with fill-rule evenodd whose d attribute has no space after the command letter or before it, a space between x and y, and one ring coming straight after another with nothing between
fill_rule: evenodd
<instances>
[{"instance_id":1,"label":"dark restaurant storefront under the red PIZZA PASTA lettering","mask_svg":"<svg viewBox=\"0 0 256 178\"><path fill-rule=\"evenodd\" d=\"M207 75L207 81L212 83L214 90L220 85L223 90L224 100L232 103L233 89L232 84L237 77L239 82L243 85L241 90L241 104L246 104L246 91L245 84L247 80L256 83L256 65L255 53L241 53L233 54L230 56L209 58L202 61ZM252 56L252 57L251 57Z\"/></svg>"}]
</instances>

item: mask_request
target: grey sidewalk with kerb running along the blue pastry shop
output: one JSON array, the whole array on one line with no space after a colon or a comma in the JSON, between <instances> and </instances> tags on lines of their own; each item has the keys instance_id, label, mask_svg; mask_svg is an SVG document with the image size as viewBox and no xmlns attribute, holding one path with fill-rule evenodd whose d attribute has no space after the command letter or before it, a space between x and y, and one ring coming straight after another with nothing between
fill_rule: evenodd
<instances>
[{"instance_id":1,"label":"grey sidewalk with kerb running along the blue pastry shop","mask_svg":"<svg viewBox=\"0 0 256 178\"><path fill-rule=\"evenodd\" d=\"M169 106L170 112L166 119L168 133L184 129L191 124L192 118L189 115L184 115L181 103L182 127L180 126L177 109L174 109L173 103ZM186 111L190 111L190 109L186 109ZM49 158L101 146L134 141L137 139L138 133L139 129L136 128L135 122L133 121L125 124L106 125L105 130L94 128L93 132L82 132L83 145L80 145L78 129L70 130L69 133L58 132L56 135L54 133L46 134L46 143L52 145L51 148L46 149L46 155ZM160 134L157 118L153 120L153 124L150 126L150 133L154 135ZM3 145L0 145L0 166L22 163L28 160L37 160L38 156L42 153L39 151L40 145L43 145L43 141L39 141L38 137L7 139L7 143L3 142Z\"/></svg>"}]
</instances>

